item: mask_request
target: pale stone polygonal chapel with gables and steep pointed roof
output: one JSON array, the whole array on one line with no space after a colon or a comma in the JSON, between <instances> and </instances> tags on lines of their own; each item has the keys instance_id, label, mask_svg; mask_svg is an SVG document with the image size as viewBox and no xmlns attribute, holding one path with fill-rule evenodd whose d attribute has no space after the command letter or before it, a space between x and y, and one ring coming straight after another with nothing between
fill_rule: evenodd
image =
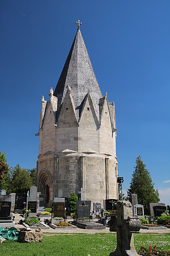
<instances>
[{"instance_id":1,"label":"pale stone polygonal chapel with gables and steep pointed roof","mask_svg":"<svg viewBox=\"0 0 170 256\"><path fill-rule=\"evenodd\" d=\"M41 98L36 183L46 206L81 190L92 204L118 199L114 102L101 93L79 25L56 89Z\"/></svg>"}]
</instances>

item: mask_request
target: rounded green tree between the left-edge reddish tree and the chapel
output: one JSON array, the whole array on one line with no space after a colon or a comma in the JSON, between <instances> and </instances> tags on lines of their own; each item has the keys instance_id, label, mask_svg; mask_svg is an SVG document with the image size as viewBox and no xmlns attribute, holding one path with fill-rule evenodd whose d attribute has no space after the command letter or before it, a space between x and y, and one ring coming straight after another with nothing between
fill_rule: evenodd
<instances>
[{"instance_id":1,"label":"rounded green tree between the left-edge reddish tree and the chapel","mask_svg":"<svg viewBox=\"0 0 170 256\"><path fill-rule=\"evenodd\" d=\"M21 168L17 164L14 168L11 168L11 190L14 193L27 192L33 185L32 177L29 175L29 171Z\"/></svg>"}]
</instances>

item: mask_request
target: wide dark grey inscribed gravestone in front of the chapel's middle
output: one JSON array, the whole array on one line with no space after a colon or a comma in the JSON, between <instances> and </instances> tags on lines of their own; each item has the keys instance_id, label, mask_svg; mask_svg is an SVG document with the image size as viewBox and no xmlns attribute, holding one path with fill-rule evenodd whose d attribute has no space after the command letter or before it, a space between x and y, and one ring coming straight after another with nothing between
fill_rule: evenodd
<instances>
[{"instance_id":1,"label":"wide dark grey inscribed gravestone in front of the chapel's middle","mask_svg":"<svg viewBox=\"0 0 170 256\"><path fill-rule=\"evenodd\" d=\"M90 217L91 201L76 201L77 218Z\"/></svg>"}]
</instances>

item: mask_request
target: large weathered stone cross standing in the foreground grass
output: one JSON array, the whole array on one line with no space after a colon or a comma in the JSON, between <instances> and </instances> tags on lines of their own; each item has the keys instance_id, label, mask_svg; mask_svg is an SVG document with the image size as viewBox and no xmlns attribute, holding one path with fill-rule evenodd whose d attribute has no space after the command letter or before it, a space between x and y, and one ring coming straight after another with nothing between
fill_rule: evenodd
<instances>
[{"instance_id":1,"label":"large weathered stone cross standing in the foreground grass","mask_svg":"<svg viewBox=\"0 0 170 256\"><path fill-rule=\"evenodd\" d=\"M117 232L116 251L110 256L137 256L134 247L133 233L139 233L141 221L138 217L133 217L132 206L129 201L116 202L117 215L111 216L108 222L111 232Z\"/></svg>"}]
</instances>

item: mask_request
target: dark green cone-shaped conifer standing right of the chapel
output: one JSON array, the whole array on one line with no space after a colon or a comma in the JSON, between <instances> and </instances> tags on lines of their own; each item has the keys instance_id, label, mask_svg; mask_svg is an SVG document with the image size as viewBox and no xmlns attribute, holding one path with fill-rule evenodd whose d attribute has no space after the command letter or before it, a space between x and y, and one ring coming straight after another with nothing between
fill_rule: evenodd
<instances>
[{"instance_id":1,"label":"dark green cone-shaped conifer standing right of the chapel","mask_svg":"<svg viewBox=\"0 0 170 256\"><path fill-rule=\"evenodd\" d=\"M139 204L158 203L158 189L155 191L150 172L146 169L146 164L143 163L141 156L137 157L134 169L128 189L128 199L131 201L131 194L136 193Z\"/></svg>"}]
</instances>

